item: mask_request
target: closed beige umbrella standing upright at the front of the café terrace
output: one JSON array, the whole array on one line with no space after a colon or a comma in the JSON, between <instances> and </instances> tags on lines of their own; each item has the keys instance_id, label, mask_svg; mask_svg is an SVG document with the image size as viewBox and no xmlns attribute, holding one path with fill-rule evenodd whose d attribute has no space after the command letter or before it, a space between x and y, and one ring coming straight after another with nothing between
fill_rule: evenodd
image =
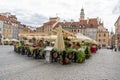
<instances>
[{"instance_id":1,"label":"closed beige umbrella standing upright at the front of the caf\u00e9 terrace","mask_svg":"<svg viewBox=\"0 0 120 80\"><path fill-rule=\"evenodd\" d=\"M62 50L65 49L65 44L64 44L64 40L63 40L63 34L62 34L62 27L61 26L59 26L59 28L58 28L57 39L55 41L54 48L58 49L59 51L62 51Z\"/></svg>"}]
</instances>

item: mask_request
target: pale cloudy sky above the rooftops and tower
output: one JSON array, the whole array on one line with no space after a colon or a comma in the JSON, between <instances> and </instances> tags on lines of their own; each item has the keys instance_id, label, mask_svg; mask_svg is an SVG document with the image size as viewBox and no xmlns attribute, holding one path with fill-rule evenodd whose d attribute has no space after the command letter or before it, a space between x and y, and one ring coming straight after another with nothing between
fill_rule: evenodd
<instances>
[{"instance_id":1,"label":"pale cloudy sky above the rooftops and tower","mask_svg":"<svg viewBox=\"0 0 120 80\"><path fill-rule=\"evenodd\" d=\"M18 21L30 26L41 26L50 17L61 21L78 21L83 7L85 18L99 17L109 31L120 16L120 0L0 0L0 13L10 12Z\"/></svg>"}]
</instances>

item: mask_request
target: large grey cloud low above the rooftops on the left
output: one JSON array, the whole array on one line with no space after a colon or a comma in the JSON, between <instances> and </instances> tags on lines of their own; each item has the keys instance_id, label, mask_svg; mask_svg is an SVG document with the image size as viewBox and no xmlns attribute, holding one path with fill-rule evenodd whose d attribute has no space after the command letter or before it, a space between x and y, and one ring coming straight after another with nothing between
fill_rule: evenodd
<instances>
[{"instance_id":1,"label":"large grey cloud low above the rooftops on the left","mask_svg":"<svg viewBox=\"0 0 120 80\"><path fill-rule=\"evenodd\" d=\"M48 20L46 16L40 13L32 13L31 10L24 9L0 9L2 12L11 12L11 14L16 15L18 21L22 24L30 25L30 26L39 26L42 25L45 21Z\"/></svg>"}]
</instances>

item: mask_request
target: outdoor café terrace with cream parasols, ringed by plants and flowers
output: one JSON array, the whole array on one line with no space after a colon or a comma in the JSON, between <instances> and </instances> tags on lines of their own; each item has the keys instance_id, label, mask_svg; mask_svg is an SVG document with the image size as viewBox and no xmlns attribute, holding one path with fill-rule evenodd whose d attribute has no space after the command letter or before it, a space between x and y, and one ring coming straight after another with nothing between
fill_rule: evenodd
<instances>
[{"instance_id":1,"label":"outdoor caf\u00e9 terrace with cream parasols, ringed by plants and flowers","mask_svg":"<svg viewBox=\"0 0 120 80\"><path fill-rule=\"evenodd\" d=\"M92 56L91 52L96 51L93 49L93 44L97 44L95 40L80 33L66 31L61 26L54 29L51 34L27 33L19 36L21 39L15 47L16 52L35 59L45 59L48 63L83 63Z\"/></svg>"}]
</instances>

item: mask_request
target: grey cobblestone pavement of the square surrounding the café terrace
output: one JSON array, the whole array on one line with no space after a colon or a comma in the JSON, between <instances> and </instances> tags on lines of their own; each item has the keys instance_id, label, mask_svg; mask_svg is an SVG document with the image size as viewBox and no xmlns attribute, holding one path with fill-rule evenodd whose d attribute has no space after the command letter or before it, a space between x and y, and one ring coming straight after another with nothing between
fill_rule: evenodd
<instances>
[{"instance_id":1,"label":"grey cobblestone pavement of the square surrounding the caf\u00e9 terrace","mask_svg":"<svg viewBox=\"0 0 120 80\"><path fill-rule=\"evenodd\" d=\"M120 80L120 52L101 49L83 64L45 64L0 46L0 80Z\"/></svg>"}]
</instances>

